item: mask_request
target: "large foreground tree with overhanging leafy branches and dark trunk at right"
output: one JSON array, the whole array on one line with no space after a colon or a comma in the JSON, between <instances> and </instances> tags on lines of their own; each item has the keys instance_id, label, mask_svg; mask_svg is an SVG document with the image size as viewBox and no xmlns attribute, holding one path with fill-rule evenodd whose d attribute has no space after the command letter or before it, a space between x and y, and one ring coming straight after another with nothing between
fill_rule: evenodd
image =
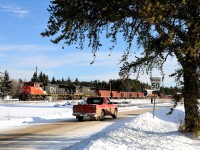
<instances>
[{"instance_id":1,"label":"large foreground tree with overhanging leafy branches and dark trunk at right","mask_svg":"<svg viewBox=\"0 0 200 150\"><path fill-rule=\"evenodd\" d=\"M198 111L198 67L200 66L200 0L53 0L49 21L43 36L53 43L80 45L89 41L94 57L102 46L100 35L111 39L118 34L128 47L122 56L120 75L162 73L167 57L176 56L183 69L183 96L186 132L200 132ZM133 39L144 49L135 61L128 61ZM164 74L163 74L164 75Z\"/></svg>"}]
</instances>

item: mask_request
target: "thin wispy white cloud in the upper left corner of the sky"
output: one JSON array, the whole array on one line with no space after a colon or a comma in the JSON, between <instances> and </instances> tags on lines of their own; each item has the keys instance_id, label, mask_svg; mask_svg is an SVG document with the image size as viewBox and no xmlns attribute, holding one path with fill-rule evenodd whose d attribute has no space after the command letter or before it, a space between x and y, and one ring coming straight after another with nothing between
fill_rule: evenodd
<instances>
[{"instance_id":1,"label":"thin wispy white cloud in the upper left corner of the sky","mask_svg":"<svg viewBox=\"0 0 200 150\"><path fill-rule=\"evenodd\" d=\"M0 4L0 11L12 13L18 17L27 16L30 11L14 3Z\"/></svg>"}]
</instances>

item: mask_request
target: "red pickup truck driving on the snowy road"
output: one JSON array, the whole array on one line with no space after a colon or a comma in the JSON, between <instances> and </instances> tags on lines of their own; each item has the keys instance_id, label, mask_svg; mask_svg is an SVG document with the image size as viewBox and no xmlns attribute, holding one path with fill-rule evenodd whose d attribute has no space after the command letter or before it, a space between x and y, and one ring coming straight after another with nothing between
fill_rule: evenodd
<instances>
[{"instance_id":1,"label":"red pickup truck driving on the snowy road","mask_svg":"<svg viewBox=\"0 0 200 150\"><path fill-rule=\"evenodd\" d=\"M107 115L117 118L117 111L117 105L112 104L106 97L88 97L85 104L73 106L72 115L76 116L79 121L82 121L84 117L104 120Z\"/></svg>"}]
</instances>

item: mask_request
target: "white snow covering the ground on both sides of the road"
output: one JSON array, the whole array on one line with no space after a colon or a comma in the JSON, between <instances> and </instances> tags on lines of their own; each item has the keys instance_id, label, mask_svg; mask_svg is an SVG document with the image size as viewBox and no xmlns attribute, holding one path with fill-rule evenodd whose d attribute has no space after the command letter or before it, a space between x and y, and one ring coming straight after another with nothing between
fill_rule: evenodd
<instances>
[{"instance_id":1,"label":"white snow covering the ground on both sides of the road","mask_svg":"<svg viewBox=\"0 0 200 150\"><path fill-rule=\"evenodd\" d=\"M122 100L124 101L124 100ZM125 107L131 105L131 107ZM158 103L158 106L170 106L170 103ZM119 111L153 107L150 100L134 100L121 104ZM0 104L0 132L16 127L38 125L74 118L71 102L41 102L23 103L18 101ZM130 118L127 122L115 124L115 130L99 128L99 132L71 149L85 150L198 150L200 139L185 136L178 132L180 123L184 120L184 107L180 104L172 115L166 115L169 108L148 112L138 117ZM110 125L110 124L109 124ZM108 125L108 126L109 126ZM65 147L63 145L63 147ZM61 148L59 148L61 149Z\"/></svg>"}]
</instances>

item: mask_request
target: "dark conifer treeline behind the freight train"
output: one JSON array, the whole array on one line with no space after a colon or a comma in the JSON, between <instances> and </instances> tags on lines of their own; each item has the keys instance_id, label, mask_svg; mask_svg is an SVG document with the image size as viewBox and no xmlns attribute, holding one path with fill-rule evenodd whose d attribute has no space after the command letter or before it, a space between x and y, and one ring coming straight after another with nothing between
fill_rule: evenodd
<instances>
[{"instance_id":1,"label":"dark conifer treeline behind the freight train","mask_svg":"<svg viewBox=\"0 0 200 150\"><path fill-rule=\"evenodd\" d=\"M52 77L51 80L49 80L48 75L40 72L39 75L36 78L36 72L33 74L33 77L31 78L31 82L41 82L41 83L51 83L51 84L68 84L68 85L77 85L77 86L87 86L87 87L93 87L96 89L101 90L117 90L117 91L132 91L132 92L138 92L142 91L144 89L150 89L150 85L147 83L142 83L138 80L132 80L132 79L111 79L108 82L107 81L100 81L100 80L94 80L94 81L79 81L78 78L76 78L74 81L71 80L70 77L67 79L56 79L55 77ZM177 92L181 92L180 88L177 87L161 87L161 92L166 95L174 95Z\"/></svg>"}]
</instances>

